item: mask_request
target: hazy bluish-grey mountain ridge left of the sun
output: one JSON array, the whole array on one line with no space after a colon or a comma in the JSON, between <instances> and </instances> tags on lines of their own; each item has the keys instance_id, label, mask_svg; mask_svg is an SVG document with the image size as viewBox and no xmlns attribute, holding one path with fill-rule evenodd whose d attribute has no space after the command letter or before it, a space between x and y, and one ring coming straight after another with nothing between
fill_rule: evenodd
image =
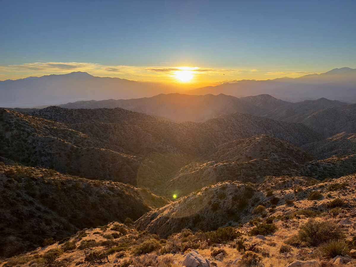
<instances>
[{"instance_id":1,"label":"hazy bluish-grey mountain ridge left of the sun","mask_svg":"<svg viewBox=\"0 0 356 267\"><path fill-rule=\"evenodd\" d=\"M139 98L177 91L176 85L95 77L86 72L0 81L0 106L40 106L77 99Z\"/></svg>"}]
</instances>

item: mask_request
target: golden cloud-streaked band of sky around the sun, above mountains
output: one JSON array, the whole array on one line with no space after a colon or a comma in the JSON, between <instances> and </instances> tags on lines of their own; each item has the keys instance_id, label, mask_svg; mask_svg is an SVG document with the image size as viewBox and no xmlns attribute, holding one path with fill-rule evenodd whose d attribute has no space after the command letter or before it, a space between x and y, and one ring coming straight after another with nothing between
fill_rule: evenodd
<instances>
[{"instance_id":1,"label":"golden cloud-streaked band of sky around the sun, above mountains","mask_svg":"<svg viewBox=\"0 0 356 267\"><path fill-rule=\"evenodd\" d=\"M35 62L0 66L0 80L40 77L49 74L88 72L100 77L146 82L181 83L185 85L209 85L242 79L266 80L280 77L296 78L312 73L304 70L204 68L192 66L106 66L81 62ZM327 71L327 70L325 70Z\"/></svg>"}]
</instances>

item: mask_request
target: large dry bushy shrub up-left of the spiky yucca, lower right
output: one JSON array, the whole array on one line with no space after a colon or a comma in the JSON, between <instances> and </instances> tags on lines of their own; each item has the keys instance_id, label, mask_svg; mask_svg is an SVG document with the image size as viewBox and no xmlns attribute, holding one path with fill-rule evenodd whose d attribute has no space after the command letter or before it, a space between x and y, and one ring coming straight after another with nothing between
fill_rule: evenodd
<instances>
[{"instance_id":1,"label":"large dry bushy shrub up-left of the spiky yucca, lower right","mask_svg":"<svg viewBox=\"0 0 356 267\"><path fill-rule=\"evenodd\" d=\"M302 245L306 246L318 246L323 242L344 237L337 224L331 221L308 221L299 228L298 238Z\"/></svg>"}]
</instances>

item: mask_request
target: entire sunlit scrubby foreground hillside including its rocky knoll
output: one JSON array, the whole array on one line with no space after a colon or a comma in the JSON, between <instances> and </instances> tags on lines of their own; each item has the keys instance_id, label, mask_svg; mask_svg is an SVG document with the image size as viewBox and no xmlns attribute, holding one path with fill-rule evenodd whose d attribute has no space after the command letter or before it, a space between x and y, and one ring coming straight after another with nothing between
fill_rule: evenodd
<instances>
[{"instance_id":1,"label":"entire sunlit scrubby foreground hillside including its rocky knoll","mask_svg":"<svg viewBox=\"0 0 356 267\"><path fill-rule=\"evenodd\" d=\"M352 175L319 183L305 177L220 183L134 225L83 229L0 266L354 266L355 181ZM340 241L325 243L330 239Z\"/></svg>"}]
</instances>

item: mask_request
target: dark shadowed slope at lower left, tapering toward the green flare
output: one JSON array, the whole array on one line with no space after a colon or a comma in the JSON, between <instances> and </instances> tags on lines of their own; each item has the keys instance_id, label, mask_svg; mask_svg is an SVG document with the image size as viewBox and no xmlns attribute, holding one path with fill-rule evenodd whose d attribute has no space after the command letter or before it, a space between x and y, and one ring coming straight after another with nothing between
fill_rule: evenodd
<instances>
[{"instance_id":1,"label":"dark shadowed slope at lower left, tapering toward the green flare","mask_svg":"<svg viewBox=\"0 0 356 267\"><path fill-rule=\"evenodd\" d=\"M0 256L35 249L83 228L138 219L170 201L116 182L0 162Z\"/></svg>"}]
</instances>

